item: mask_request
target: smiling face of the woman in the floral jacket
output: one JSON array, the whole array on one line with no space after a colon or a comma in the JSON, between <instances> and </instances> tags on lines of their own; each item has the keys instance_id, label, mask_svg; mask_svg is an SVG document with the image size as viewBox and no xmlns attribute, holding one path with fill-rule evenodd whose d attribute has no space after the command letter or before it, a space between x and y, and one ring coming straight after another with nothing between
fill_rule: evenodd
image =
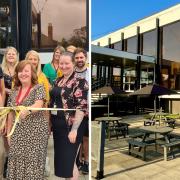
<instances>
[{"instance_id":1,"label":"smiling face of the woman in the floral jacket","mask_svg":"<svg viewBox=\"0 0 180 180\"><path fill-rule=\"evenodd\" d=\"M59 68L64 74L64 76L69 76L74 69L74 64L70 56L62 55L59 61Z\"/></svg>"}]
</instances>

